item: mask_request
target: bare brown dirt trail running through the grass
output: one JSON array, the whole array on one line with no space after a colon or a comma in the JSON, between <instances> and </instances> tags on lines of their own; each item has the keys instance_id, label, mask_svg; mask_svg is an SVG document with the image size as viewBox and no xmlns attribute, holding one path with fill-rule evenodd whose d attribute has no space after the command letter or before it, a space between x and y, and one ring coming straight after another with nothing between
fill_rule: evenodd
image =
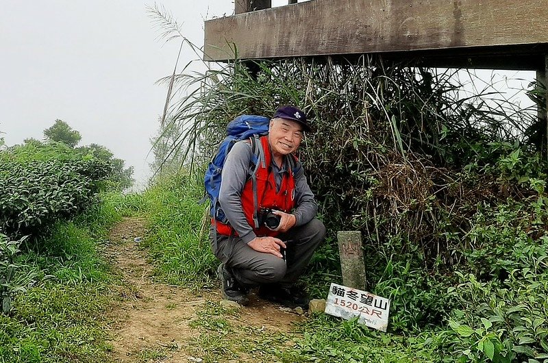
<instances>
[{"instance_id":1,"label":"bare brown dirt trail running through the grass","mask_svg":"<svg viewBox=\"0 0 548 363\"><path fill-rule=\"evenodd\" d=\"M141 218L125 218L110 232L106 254L124 281L119 306L110 314L115 322L112 358L114 362L200 362L188 353L189 344L200 334L189 323L207 301L221 301L221 292L198 296L181 287L153 282L153 266L138 247L139 239L146 238L144 224ZM234 323L290 331L291 322L299 318L254 298L249 307L240 310L240 318ZM169 357L149 360L146 353L151 351L169 351Z\"/></svg>"}]
</instances>

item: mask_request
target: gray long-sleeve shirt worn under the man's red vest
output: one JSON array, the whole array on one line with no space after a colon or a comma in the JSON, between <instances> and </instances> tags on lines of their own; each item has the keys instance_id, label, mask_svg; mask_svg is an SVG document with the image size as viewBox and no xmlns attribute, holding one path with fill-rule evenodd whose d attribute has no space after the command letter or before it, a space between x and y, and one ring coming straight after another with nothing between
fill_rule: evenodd
<instances>
[{"instance_id":1,"label":"gray long-sleeve shirt worn under the man's red vest","mask_svg":"<svg viewBox=\"0 0 548 363\"><path fill-rule=\"evenodd\" d=\"M238 236L243 242L247 243L256 234L253 228L247 222L242 208L242 199L240 198L242 190L247 182L249 175L249 164L253 150L251 144L246 141L238 141L230 150L223 166L221 175L221 190L219 190L219 203L230 225L238 233ZM275 176L276 187L279 189L282 183L283 173L288 171L288 160L284 158L282 168L278 168L272 160L272 171ZM303 168L299 163L299 168L293 175L295 179L295 210L292 214L295 215L295 226L303 225L312 220L316 216L318 205L314 200L314 194L306 182L306 177Z\"/></svg>"}]
</instances>

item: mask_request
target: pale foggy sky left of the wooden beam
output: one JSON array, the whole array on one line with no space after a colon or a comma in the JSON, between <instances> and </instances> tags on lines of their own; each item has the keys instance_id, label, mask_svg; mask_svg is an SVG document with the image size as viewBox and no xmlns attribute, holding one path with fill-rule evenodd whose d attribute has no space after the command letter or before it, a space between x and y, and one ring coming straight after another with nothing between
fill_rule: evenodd
<instances>
[{"instance_id":1,"label":"pale foggy sky left of the wooden beam","mask_svg":"<svg viewBox=\"0 0 548 363\"><path fill-rule=\"evenodd\" d=\"M190 3L192 6L190 6ZM43 138L55 119L135 167L140 184L149 173L149 138L158 127L179 41L157 39L145 4L134 0L0 0L0 134L8 145ZM230 15L226 0L157 3L203 45L203 20ZM179 64L197 59L184 51ZM197 67L201 62L197 62Z\"/></svg>"}]
</instances>

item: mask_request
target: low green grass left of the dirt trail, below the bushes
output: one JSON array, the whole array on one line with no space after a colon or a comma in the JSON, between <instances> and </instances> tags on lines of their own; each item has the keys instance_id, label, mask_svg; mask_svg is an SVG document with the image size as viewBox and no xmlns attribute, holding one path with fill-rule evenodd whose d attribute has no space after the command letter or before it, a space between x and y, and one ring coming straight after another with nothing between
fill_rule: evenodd
<instances>
[{"instance_id":1,"label":"low green grass left of the dirt trail, below the bushes","mask_svg":"<svg viewBox=\"0 0 548 363\"><path fill-rule=\"evenodd\" d=\"M108 361L105 313L116 280L99 258L97 241L123 208L109 195L102 199L74 221L55 223L41 253L16 256L19 273L42 279L14 297L9 316L0 314L0 362Z\"/></svg>"}]
</instances>

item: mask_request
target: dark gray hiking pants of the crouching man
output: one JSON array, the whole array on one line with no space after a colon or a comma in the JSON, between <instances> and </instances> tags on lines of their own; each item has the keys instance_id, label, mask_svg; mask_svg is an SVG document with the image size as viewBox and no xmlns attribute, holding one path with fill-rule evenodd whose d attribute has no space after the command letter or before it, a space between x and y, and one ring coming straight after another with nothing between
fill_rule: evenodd
<instances>
[{"instance_id":1,"label":"dark gray hiking pants of the crouching man","mask_svg":"<svg viewBox=\"0 0 548 363\"><path fill-rule=\"evenodd\" d=\"M286 260L271 253L258 252L237 236L216 234L216 258L232 269L240 284L258 286L275 282L289 287L303 274L314 251L325 236L323 223L314 218L277 236L286 242ZM210 229L210 244L214 249L215 233Z\"/></svg>"}]
</instances>

